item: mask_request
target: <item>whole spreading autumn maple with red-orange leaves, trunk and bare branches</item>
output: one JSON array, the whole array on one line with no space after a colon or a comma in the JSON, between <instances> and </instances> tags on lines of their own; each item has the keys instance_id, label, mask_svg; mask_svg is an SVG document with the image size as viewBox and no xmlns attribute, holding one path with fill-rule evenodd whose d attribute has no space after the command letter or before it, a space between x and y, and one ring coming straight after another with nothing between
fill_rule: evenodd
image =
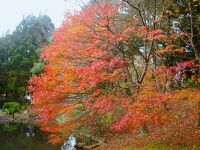
<instances>
[{"instance_id":1,"label":"whole spreading autumn maple with red-orange leaves, trunk and bare branches","mask_svg":"<svg viewBox=\"0 0 200 150\"><path fill-rule=\"evenodd\" d=\"M175 45L182 36L162 26L167 23L162 1L148 2L93 1L66 14L53 41L43 48L44 73L34 76L29 87L37 121L52 132L52 142L72 132L86 135L83 128L94 133L99 122L106 129L141 129L143 134L171 125L171 110L176 109L169 108L170 102L182 99L184 91L173 93L168 81L181 67L198 64L165 66L164 55L183 53Z\"/></svg>"}]
</instances>

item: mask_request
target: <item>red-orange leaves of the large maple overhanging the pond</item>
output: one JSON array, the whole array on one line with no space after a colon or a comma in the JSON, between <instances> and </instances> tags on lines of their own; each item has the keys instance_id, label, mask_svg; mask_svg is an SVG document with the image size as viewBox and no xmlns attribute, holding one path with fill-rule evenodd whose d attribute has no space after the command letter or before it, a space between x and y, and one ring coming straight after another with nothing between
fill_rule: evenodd
<instances>
[{"instance_id":1,"label":"red-orange leaves of the large maple overhanging the pond","mask_svg":"<svg viewBox=\"0 0 200 150\"><path fill-rule=\"evenodd\" d=\"M61 142L74 128L91 121L88 116L95 112L118 111L120 115L113 120L112 129L123 131L138 129L145 122L157 127L173 120L165 105L172 99L182 99L183 91L182 95L162 93L153 81L141 81L137 83L139 92L127 95L119 85L127 80L127 68L133 65L124 56L123 44L133 37L146 38L150 43L166 40L160 29L150 30L135 18L122 20L119 8L120 5L109 3L88 5L83 11L67 14L54 32L53 41L43 48L41 58L47 65L44 73L32 77L29 91L37 121L43 130L52 133L53 143ZM168 45L157 54L165 52L182 52L182 48ZM144 58L147 64L149 57ZM173 76L176 69L169 70L169 76ZM192 99L192 95L185 97ZM75 113L81 107L86 116Z\"/></svg>"}]
</instances>

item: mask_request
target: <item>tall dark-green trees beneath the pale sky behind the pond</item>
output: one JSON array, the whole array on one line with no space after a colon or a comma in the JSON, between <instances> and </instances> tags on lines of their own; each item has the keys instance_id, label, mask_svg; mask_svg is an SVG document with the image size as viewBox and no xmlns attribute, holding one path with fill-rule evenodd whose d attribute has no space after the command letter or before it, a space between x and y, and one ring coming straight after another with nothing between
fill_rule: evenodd
<instances>
[{"instance_id":1,"label":"tall dark-green trees beneath the pale sky behind the pond","mask_svg":"<svg viewBox=\"0 0 200 150\"><path fill-rule=\"evenodd\" d=\"M0 99L23 103L27 81L42 72L40 49L51 40L54 25L47 15L29 15L16 30L0 37ZM32 69L33 68L33 69Z\"/></svg>"}]
</instances>

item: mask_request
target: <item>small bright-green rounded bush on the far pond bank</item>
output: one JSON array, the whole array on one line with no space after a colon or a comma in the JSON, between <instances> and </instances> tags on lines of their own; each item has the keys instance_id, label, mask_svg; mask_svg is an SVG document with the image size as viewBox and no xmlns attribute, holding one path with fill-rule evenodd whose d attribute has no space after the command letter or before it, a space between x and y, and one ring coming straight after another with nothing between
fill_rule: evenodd
<instances>
[{"instance_id":1,"label":"small bright-green rounded bush on the far pond bank","mask_svg":"<svg viewBox=\"0 0 200 150\"><path fill-rule=\"evenodd\" d=\"M3 110L7 112L9 115L12 114L13 119L15 117L15 113L19 112L21 109L21 105L17 102L7 102L3 105Z\"/></svg>"}]
</instances>

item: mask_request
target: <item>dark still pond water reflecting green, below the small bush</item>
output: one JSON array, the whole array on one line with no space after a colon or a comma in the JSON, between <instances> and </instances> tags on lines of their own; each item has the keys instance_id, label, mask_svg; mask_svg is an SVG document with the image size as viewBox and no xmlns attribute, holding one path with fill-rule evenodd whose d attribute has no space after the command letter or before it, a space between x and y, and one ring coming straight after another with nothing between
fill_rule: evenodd
<instances>
[{"instance_id":1,"label":"dark still pond water reflecting green, below the small bush","mask_svg":"<svg viewBox=\"0 0 200 150\"><path fill-rule=\"evenodd\" d=\"M0 124L0 150L60 150L47 143L47 136L33 124Z\"/></svg>"}]
</instances>

